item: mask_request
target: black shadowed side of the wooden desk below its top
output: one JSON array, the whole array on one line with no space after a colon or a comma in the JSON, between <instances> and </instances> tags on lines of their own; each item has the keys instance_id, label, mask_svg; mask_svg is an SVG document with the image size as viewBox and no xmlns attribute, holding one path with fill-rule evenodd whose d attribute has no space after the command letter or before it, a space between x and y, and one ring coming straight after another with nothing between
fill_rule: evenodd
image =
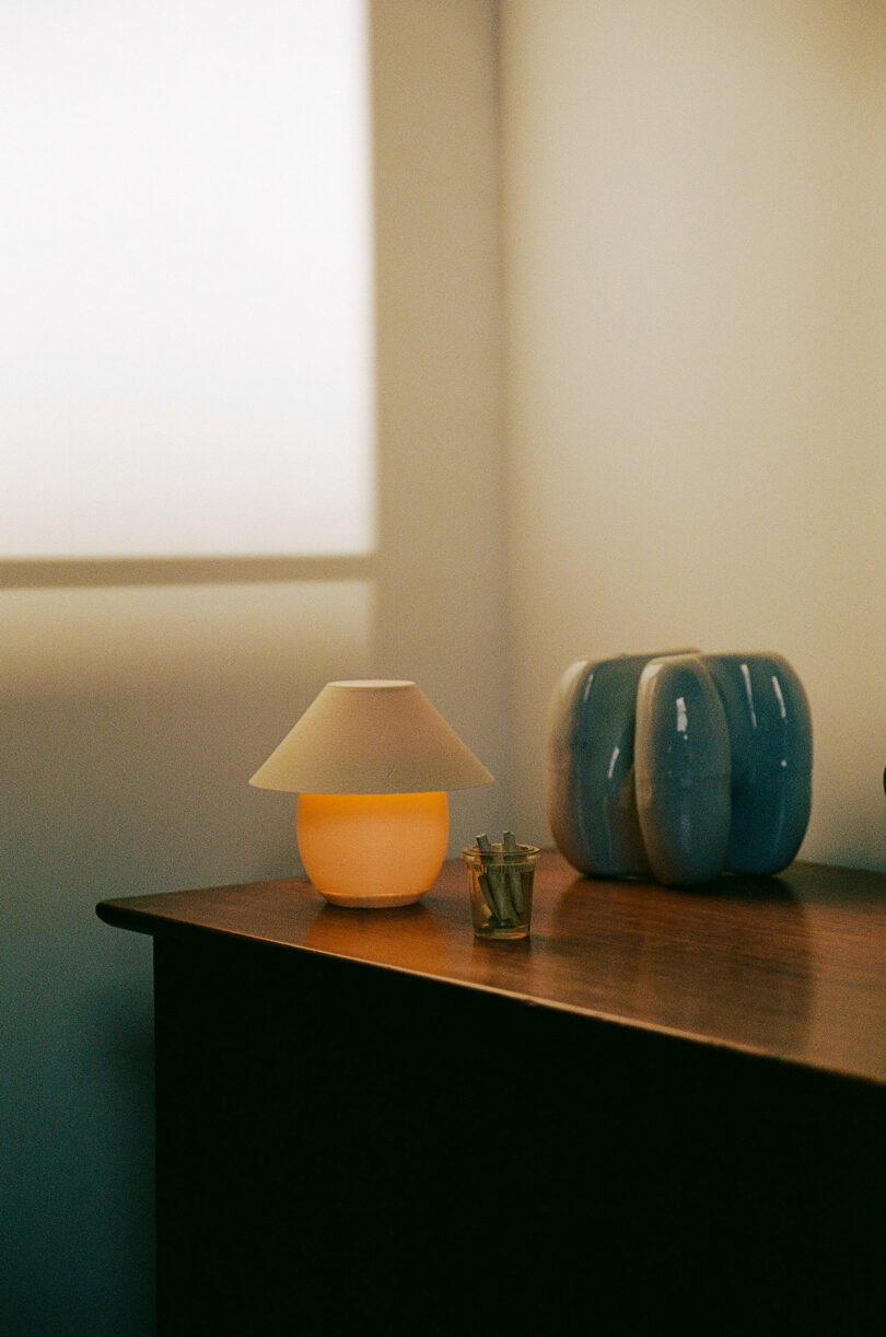
<instances>
[{"instance_id":1,"label":"black shadowed side of the wooden desk below its top","mask_svg":"<svg viewBox=\"0 0 886 1337\"><path fill-rule=\"evenodd\" d=\"M879 1330L882 1087L234 939L155 972L160 1337Z\"/></svg>"}]
</instances>

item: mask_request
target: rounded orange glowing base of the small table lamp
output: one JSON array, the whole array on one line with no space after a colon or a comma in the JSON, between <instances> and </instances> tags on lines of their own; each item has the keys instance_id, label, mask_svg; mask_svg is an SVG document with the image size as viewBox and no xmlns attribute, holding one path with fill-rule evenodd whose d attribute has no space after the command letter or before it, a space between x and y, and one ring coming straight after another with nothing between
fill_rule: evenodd
<instances>
[{"instance_id":1,"label":"rounded orange glowing base of the small table lamp","mask_svg":"<svg viewBox=\"0 0 886 1337\"><path fill-rule=\"evenodd\" d=\"M445 793L299 794L298 852L333 905L412 905L442 868L449 840Z\"/></svg>"}]
</instances>

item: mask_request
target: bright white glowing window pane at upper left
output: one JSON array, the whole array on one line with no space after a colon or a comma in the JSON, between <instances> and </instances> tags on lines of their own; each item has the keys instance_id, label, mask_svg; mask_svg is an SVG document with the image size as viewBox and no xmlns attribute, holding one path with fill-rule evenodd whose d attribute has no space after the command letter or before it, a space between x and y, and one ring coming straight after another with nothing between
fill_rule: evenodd
<instances>
[{"instance_id":1,"label":"bright white glowing window pane at upper left","mask_svg":"<svg viewBox=\"0 0 886 1337\"><path fill-rule=\"evenodd\" d=\"M362 0L4 0L0 556L373 545Z\"/></svg>"}]
</instances>

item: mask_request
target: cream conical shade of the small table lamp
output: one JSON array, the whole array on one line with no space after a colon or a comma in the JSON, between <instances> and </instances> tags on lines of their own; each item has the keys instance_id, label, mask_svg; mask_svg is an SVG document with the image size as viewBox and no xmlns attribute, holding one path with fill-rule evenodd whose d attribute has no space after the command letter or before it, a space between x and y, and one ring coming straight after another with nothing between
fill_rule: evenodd
<instances>
[{"instance_id":1,"label":"cream conical shade of the small table lamp","mask_svg":"<svg viewBox=\"0 0 886 1337\"><path fill-rule=\"evenodd\" d=\"M414 682L330 682L250 783L313 794L414 794L489 785Z\"/></svg>"}]
</instances>

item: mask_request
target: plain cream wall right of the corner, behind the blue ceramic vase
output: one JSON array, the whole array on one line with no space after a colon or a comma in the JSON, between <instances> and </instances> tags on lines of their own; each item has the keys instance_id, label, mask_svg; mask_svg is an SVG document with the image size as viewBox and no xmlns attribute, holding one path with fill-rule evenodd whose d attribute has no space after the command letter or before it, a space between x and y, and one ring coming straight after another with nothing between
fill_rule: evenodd
<instances>
[{"instance_id":1,"label":"plain cream wall right of the corner, behind the blue ceramic vase","mask_svg":"<svg viewBox=\"0 0 886 1337\"><path fill-rule=\"evenodd\" d=\"M802 854L886 868L886 8L501 12L520 825L572 660L772 648Z\"/></svg>"}]
</instances>

